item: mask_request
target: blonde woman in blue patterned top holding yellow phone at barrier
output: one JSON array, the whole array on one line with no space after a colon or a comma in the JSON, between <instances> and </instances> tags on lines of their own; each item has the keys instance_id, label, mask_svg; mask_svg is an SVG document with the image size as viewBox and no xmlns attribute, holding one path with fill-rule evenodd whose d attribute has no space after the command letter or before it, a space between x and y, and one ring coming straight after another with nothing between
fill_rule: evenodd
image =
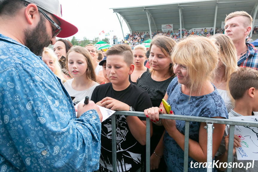
<instances>
[{"instance_id":1,"label":"blonde woman in blue patterned top holding yellow phone at barrier","mask_svg":"<svg viewBox=\"0 0 258 172\"><path fill-rule=\"evenodd\" d=\"M204 48L205 47L205 48ZM228 118L224 101L211 77L218 64L218 49L215 43L204 36L189 36L175 45L171 55L175 77L167 88L164 99L171 106L171 115ZM198 69L198 70L196 70ZM200 103L196 103L200 102ZM159 119L167 113L161 108L144 110L146 117L157 124L163 124L164 157L167 171L183 171L184 166L184 121ZM207 162L206 122L189 122L188 164ZM225 124L213 124L212 157L214 158L222 139ZM188 171L205 171L206 168L188 168Z\"/></svg>"}]
</instances>

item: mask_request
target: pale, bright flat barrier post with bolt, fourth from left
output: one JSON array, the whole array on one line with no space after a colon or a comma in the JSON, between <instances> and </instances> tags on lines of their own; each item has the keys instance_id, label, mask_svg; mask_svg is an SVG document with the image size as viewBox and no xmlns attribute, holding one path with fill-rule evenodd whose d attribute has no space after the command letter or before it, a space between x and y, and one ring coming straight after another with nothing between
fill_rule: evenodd
<instances>
[{"instance_id":1,"label":"pale, bright flat barrier post with bolt, fourth from left","mask_svg":"<svg viewBox=\"0 0 258 172\"><path fill-rule=\"evenodd\" d=\"M213 124L207 123L207 126L204 126L207 129L207 164L212 163L212 133L213 133ZM212 172L212 168L207 168L207 172Z\"/></svg>"}]
</instances>

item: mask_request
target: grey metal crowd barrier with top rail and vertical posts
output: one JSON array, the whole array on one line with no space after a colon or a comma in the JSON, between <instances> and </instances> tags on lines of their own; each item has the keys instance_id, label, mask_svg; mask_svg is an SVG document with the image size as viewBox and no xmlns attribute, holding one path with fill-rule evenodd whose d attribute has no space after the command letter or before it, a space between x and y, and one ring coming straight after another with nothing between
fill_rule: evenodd
<instances>
[{"instance_id":1,"label":"grey metal crowd barrier with top rail and vertical posts","mask_svg":"<svg viewBox=\"0 0 258 172\"><path fill-rule=\"evenodd\" d=\"M132 112L132 111L117 111L112 115L112 164L113 171L115 172L117 169L116 164L116 123L115 123L115 115L130 115L130 116L138 116L145 117L143 112ZM184 115L168 115L162 114L159 115L161 119L175 119L185 121L185 138L184 138L184 172L188 171L188 143L189 143L189 121L196 122L206 122L207 125L204 127L207 129L207 164L212 163L212 134L213 134L213 123L216 124L229 124L230 132L229 132L229 147L228 147L228 162L232 162L233 160L233 139L234 139L234 128L235 125L241 126L250 126L250 127L258 127L257 122L251 121L240 121L240 120L229 120L222 118L206 118L206 117L196 117L196 116L184 116ZM148 119L148 118L147 118ZM146 172L150 171L150 120L146 120ZM211 172L212 168L207 168L207 172ZM232 168L227 168L227 172L231 172Z\"/></svg>"}]
</instances>

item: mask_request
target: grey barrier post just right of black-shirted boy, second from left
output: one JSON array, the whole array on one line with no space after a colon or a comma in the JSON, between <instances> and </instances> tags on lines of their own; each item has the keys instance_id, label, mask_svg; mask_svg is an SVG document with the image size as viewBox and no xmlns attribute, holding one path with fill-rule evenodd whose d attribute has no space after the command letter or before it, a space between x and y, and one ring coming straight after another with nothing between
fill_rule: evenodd
<instances>
[{"instance_id":1,"label":"grey barrier post just right of black-shirted boy, second from left","mask_svg":"<svg viewBox=\"0 0 258 172\"><path fill-rule=\"evenodd\" d=\"M149 118L146 118L146 172L150 172L149 148L150 148L150 121L149 121Z\"/></svg>"}]
</instances>

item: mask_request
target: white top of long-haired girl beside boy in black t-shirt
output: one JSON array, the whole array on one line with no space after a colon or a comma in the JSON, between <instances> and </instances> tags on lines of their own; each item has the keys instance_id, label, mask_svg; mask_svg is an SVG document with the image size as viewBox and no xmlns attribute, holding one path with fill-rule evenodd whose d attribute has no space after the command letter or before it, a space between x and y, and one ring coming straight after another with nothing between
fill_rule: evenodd
<instances>
[{"instance_id":1,"label":"white top of long-haired girl beside boy in black t-shirt","mask_svg":"<svg viewBox=\"0 0 258 172\"><path fill-rule=\"evenodd\" d=\"M93 86L91 86L90 88L86 89L86 90L83 90L83 91L77 91L77 90L74 90L72 88L72 82L73 82L74 78L71 79L71 80L66 80L66 82L64 83L64 86L65 86L65 89L67 90L68 94L71 96L71 97L75 97L73 99L73 102L77 102L77 101L81 101L83 100L86 96L89 97L89 100L91 100L91 95L92 95L92 92L93 90L95 89L96 86L100 85L98 83L94 84Z\"/></svg>"}]
</instances>

